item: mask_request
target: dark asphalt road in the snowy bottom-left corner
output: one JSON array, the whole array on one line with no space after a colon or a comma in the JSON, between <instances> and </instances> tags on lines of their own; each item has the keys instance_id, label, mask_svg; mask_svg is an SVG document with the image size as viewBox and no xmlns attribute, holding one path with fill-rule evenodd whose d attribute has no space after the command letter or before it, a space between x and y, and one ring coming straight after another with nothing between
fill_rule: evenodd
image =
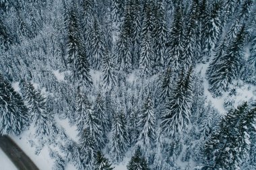
<instances>
[{"instance_id":1,"label":"dark asphalt road in the snowy bottom-left corner","mask_svg":"<svg viewBox=\"0 0 256 170\"><path fill-rule=\"evenodd\" d=\"M39 170L22 149L8 136L0 135L0 148L20 170Z\"/></svg>"}]
</instances>

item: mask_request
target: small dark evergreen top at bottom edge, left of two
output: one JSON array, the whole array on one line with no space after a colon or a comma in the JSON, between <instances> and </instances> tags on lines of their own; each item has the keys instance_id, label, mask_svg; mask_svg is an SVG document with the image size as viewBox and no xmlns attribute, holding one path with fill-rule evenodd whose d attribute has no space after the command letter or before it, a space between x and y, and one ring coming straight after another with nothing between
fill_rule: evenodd
<instances>
[{"instance_id":1,"label":"small dark evergreen top at bottom edge, left of two","mask_svg":"<svg viewBox=\"0 0 256 170\"><path fill-rule=\"evenodd\" d=\"M113 170L112 164L109 163L108 159L104 157L104 155L98 151L96 155L96 161L94 163L95 170Z\"/></svg>"}]
</instances>

